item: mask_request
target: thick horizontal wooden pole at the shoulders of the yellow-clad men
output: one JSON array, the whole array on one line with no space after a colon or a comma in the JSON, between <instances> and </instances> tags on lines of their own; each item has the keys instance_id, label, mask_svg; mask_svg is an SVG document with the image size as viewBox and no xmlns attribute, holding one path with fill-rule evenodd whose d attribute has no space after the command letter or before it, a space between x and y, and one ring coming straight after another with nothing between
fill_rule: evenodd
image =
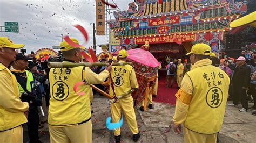
<instances>
[{"instance_id":1,"label":"thick horizontal wooden pole at the shoulders of the yellow-clad men","mask_svg":"<svg viewBox=\"0 0 256 143\"><path fill-rule=\"evenodd\" d=\"M132 62L118 62L118 63L112 63L112 66L122 66L122 65L132 65ZM65 63L65 62L49 62L47 64L48 68L74 68L79 66L84 67L96 67L96 66L109 66L109 63L105 62L80 62L80 63Z\"/></svg>"}]
</instances>

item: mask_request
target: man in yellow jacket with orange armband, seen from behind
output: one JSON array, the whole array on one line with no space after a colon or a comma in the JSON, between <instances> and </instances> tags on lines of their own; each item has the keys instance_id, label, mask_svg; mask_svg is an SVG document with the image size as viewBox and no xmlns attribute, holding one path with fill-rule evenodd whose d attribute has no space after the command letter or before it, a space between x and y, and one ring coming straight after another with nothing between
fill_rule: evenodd
<instances>
[{"instance_id":1,"label":"man in yellow jacket with orange armband, seen from behind","mask_svg":"<svg viewBox=\"0 0 256 143\"><path fill-rule=\"evenodd\" d=\"M196 44L190 55L193 67L181 83L177 97L173 130L180 134L184 124L185 142L216 142L223 124L230 78L212 66L211 47Z\"/></svg>"}]
</instances>

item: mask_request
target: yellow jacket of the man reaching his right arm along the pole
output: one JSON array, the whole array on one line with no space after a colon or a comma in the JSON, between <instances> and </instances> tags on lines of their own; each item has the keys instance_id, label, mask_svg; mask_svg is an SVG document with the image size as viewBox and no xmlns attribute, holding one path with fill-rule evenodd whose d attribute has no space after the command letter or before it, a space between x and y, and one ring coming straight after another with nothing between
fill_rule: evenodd
<instances>
[{"instance_id":1,"label":"yellow jacket of the man reaching his right arm along the pole","mask_svg":"<svg viewBox=\"0 0 256 143\"><path fill-rule=\"evenodd\" d=\"M68 61L64 61L68 62ZM48 123L51 126L77 125L91 118L90 84L100 84L105 81L109 71L100 74L93 73L90 68L53 68L49 73L50 106ZM86 84L79 86L77 95L73 86L77 82Z\"/></svg>"}]
</instances>

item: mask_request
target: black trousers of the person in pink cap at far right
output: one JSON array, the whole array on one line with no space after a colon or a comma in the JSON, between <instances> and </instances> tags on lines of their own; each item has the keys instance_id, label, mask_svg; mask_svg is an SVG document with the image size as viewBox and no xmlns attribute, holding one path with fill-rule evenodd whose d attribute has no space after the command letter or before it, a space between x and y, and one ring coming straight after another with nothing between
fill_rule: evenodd
<instances>
[{"instance_id":1,"label":"black trousers of the person in pink cap at far right","mask_svg":"<svg viewBox=\"0 0 256 143\"><path fill-rule=\"evenodd\" d=\"M246 89L242 89L241 85L233 84L233 104L238 105L241 101L242 108L248 109L248 99Z\"/></svg>"}]
</instances>

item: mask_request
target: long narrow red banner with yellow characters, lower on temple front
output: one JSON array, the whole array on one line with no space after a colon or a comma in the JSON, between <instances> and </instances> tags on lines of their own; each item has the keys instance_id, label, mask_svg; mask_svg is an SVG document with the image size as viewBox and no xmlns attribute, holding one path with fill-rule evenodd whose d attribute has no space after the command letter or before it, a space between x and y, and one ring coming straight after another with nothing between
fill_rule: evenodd
<instances>
[{"instance_id":1,"label":"long narrow red banner with yellow characters, lower on temple front","mask_svg":"<svg viewBox=\"0 0 256 143\"><path fill-rule=\"evenodd\" d=\"M135 44L145 44L145 41L149 41L149 44L158 44L166 42L190 42L196 39L195 34L184 34L184 35L161 35L156 37L143 37L143 38L134 38Z\"/></svg>"}]
</instances>

